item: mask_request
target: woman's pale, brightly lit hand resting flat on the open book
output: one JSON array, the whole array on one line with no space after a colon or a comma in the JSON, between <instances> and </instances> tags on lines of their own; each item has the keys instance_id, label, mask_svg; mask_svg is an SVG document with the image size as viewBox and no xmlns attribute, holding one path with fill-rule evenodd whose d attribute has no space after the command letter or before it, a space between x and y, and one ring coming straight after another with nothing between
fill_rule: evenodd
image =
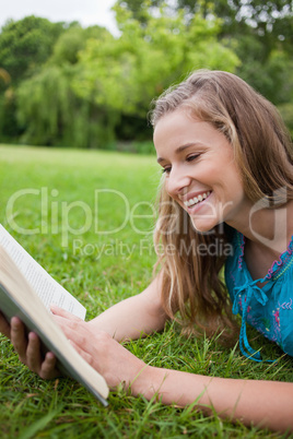
<instances>
[{"instance_id":1,"label":"woman's pale, brightly lit hand resting flat on the open book","mask_svg":"<svg viewBox=\"0 0 293 439\"><path fill-rule=\"evenodd\" d=\"M116 342L108 333L71 313L51 307L56 322L78 353L106 380L109 388L137 381L146 365Z\"/></svg>"}]
</instances>

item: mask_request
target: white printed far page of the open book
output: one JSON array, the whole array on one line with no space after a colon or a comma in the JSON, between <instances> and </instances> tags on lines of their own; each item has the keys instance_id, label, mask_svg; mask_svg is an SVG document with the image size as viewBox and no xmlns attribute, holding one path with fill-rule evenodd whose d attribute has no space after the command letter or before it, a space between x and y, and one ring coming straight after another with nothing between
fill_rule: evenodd
<instances>
[{"instance_id":1,"label":"white printed far page of the open book","mask_svg":"<svg viewBox=\"0 0 293 439\"><path fill-rule=\"evenodd\" d=\"M1 224L0 246L13 259L27 283L33 287L47 309L49 309L51 304L55 304L84 320L85 308L27 253Z\"/></svg>"}]
</instances>

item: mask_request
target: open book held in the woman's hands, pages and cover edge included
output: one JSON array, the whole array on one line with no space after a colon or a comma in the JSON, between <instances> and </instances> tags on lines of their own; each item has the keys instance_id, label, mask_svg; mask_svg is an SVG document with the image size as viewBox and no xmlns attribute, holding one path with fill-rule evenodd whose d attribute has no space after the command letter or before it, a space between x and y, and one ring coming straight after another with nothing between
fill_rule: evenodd
<instances>
[{"instance_id":1,"label":"open book held in the woman's hands, pages and cover edge included","mask_svg":"<svg viewBox=\"0 0 293 439\"><path fill-rule=\"evenodd\" d=\"M17 316L34 331L46 351L58 359L58 368L82 383L105 406L108 387L71 346L54 321L51 304L84 319L85 308L59 285L0 224L0 311L10 321Z\"/></svg>"}]
</instances>

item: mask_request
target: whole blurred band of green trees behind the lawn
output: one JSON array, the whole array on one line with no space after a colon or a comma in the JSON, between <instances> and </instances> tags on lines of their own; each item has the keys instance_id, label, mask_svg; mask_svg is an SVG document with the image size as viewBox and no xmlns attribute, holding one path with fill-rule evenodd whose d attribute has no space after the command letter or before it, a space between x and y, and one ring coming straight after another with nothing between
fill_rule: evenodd
<instances>
[{"instance_id":1,"label":"whole blurred band of green trees behind the lawn","mask_svg":"<svg viewBox=\"0 0 293 439\"><path fill-rule=\"evenodd\" d=\"M293 2L118 0L118 35L34 15L0 32L0 143L152 151L153 98L195 69L238 74L293 133Z\"/></svg>"}]
</instances>

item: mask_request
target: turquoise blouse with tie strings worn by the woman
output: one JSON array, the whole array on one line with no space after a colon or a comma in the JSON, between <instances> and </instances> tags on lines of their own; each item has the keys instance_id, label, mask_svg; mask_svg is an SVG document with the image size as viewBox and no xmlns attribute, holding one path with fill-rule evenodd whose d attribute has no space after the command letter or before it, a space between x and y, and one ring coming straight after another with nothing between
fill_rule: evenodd
<instances>
[{"instance_id":1,"label":"turquoise blouse with tie strings worn by the woman","mask_svg":"<svg viewBox=\"0 0 293 439\"><path fill-rule=\"evenodd\" d=\"M293 236L286 251L274 261L263 278L253 281L244 260L245 237L235 232L233 254L225 264L225 282L233 312L242 316L242 353L261 361L259 352L248 343L246 322L293 356ZM256 284L262 284L258 287Z\"/></svg>"}]
</instances>

